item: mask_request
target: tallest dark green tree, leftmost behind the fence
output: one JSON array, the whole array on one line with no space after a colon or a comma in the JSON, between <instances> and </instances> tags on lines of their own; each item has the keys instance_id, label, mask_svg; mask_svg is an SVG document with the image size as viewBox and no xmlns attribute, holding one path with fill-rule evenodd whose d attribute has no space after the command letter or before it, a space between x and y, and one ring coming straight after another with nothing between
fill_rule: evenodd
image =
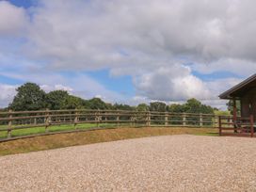
<instances>
[{"instance_id":1,"label":"tallest dark green tree, leftmost behind the fence","mask_svg":"<svg viewBox=\"0 0 256 192\"><path fill-rule=\"evenodd\" d=\"M16 89L15 95L9 108L15 111L39 110L46 108L46 93L34 83L25 83Z\"/></svg>"}]
</instances>

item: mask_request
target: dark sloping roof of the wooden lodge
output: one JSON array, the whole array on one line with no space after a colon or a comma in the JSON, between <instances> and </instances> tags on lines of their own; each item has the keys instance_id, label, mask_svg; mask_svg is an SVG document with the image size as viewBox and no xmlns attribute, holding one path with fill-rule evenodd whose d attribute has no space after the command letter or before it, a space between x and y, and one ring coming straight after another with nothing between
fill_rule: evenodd
<instances>
[{"instance_id":1,"label":"dark sloping roof of the wooden lodge","mask_svg":"<svg viewBox=\"0 0 256 192\"><path fill-rule=\"evenodd\" d=\"M256 73L242 81L240 84L220 94L220 99L241 98L249 88L256 88Z\"/></svg>"}]
</instances>

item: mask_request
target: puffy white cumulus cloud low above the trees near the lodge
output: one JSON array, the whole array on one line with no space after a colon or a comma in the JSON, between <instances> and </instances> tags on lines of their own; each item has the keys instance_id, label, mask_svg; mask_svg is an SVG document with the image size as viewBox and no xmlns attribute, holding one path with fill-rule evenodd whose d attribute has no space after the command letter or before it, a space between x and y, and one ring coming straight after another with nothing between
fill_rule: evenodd
<instances>
[{"instance_id":1,"label":"puffy white cumulus cloud low above the trees near the lodge","mask_svg":"<svg viewBox=\"0 0 256 192\"><path fill-rule=\"evenodd\" d=\"M136 79L138 94L151 100L181 101L189 98L210 99L206 85L189 68L181 65L161 67Z\"/></svg>"}]
</instances>

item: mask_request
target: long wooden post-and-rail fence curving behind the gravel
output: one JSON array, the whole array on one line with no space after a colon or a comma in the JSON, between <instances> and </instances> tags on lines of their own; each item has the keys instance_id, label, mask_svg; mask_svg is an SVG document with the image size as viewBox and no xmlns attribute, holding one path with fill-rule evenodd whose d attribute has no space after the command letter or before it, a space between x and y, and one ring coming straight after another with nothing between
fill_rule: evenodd
<instances>
[{"instance_id":1,"label":"long wooden post-and-rail fence curving behind the gravel","mask_svg":"<svg viewBox=\"0 0 256 192\"><path fill-rule=\"evenodd\" d=\"M230 118L230 117L227 117ZM219 127L214 114L125 110L40 110L0 112L0 140L91 128L139 126ZM22 131L21 131L22 130Z\"/></svg>"}]
</instances>

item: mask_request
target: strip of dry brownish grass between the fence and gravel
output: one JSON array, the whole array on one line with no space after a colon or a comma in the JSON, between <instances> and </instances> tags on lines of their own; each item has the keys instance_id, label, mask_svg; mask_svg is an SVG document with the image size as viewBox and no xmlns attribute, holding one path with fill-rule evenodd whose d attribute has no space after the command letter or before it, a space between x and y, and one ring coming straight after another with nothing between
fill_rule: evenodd
<instances>
[{"instance_id":1,"label":"strip of dry brownish grass between the fence and gravel","mask_svg":"<svg viewBox=\"0 0 256 192\"><path fill-rule=\"evenodd\" d=\"M29 138L10 140L7 142L0 142L0 155L22 152L36 152L74 145L85 145L90 143L114 141L143 136L167 136L181 134L217 136L217 129L174 127L117 128L69 134L56 134L49 136L34 136Z\"/></svg>"}]
</instances>

